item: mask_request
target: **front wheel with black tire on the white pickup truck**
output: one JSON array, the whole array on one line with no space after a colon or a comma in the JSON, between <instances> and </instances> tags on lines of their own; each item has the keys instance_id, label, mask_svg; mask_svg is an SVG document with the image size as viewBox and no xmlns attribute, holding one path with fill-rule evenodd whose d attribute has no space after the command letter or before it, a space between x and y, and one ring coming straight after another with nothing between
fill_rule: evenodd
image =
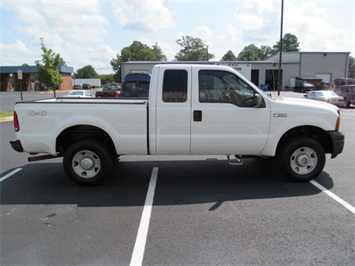
<instances>
[{"instance_id":1,"label":"front wheel with black tire on the white pickup truck","mask_svg":"<svg viewBox=\"0 0 355 266\"><path fill-rule=\"evenodd\" d=\"M325 152L316 140L301 137L286 142L278 154L282 172L292 181L316 178L325 165Z\"/></svg>"}]
</instances>

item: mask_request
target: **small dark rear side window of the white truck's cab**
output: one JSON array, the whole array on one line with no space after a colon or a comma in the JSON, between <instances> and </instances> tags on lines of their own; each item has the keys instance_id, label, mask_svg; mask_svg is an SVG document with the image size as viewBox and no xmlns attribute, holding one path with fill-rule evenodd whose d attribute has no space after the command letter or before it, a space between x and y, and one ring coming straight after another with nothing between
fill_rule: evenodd
<instances>
[{"instance_id":1,"label":"small dark rear side window of the white truck's cab","mask_svg":"<svg viewBox=\"0 0 355 266\"><path fill-rule=\"evenodd\" d=\"M163 102L186 102L187 71L166 70L163 79Z\"/></svg>"}]
</instances>

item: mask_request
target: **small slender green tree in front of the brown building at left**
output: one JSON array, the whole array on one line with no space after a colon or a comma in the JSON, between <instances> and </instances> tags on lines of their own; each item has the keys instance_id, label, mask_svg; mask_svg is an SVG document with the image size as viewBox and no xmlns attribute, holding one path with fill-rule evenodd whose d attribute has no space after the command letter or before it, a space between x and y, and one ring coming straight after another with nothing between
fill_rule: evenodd
<instances>
[{"instance_id":1,"label":"small slender green tree in front of the brown building at left","mask_svg":"<svg viewBox=\"0 0 355 266\"><path fill-rule=\"evenodd\" d=\"M63 83L59 73L59 67L63 60L60 54L55 54L52 49L47 49L43 41L41 42L41 50L43 52L42 63L40 61L36 62L38 78L42 83L46 84L47 88L53 90L54 97L56 97L56 90Z\"/></svg>"}]
</instances>

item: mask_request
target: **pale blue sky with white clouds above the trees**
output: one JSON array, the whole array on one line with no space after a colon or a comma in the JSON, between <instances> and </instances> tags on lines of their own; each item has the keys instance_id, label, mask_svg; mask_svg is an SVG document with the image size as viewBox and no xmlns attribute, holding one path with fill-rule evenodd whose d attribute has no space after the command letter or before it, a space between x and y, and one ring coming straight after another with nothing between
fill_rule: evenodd
<instances>
[{"instance_id":1,"label":"pale blue sky with white clouds above the trees","mask_svg":"<svg viewBox=\"0 0 355 266\"><path fill-rule=\"evenodd\" d=\"M281 0L1 0L0 65L34 65L41 41L67 66L113 73L110 61L134 41L162 49L168 61L181 36L200 38L211 61L228 50L273 46L280 39ZM283 35L303 52L355 56L355 0L284 0Z\"/></svg>"}]
</instances>

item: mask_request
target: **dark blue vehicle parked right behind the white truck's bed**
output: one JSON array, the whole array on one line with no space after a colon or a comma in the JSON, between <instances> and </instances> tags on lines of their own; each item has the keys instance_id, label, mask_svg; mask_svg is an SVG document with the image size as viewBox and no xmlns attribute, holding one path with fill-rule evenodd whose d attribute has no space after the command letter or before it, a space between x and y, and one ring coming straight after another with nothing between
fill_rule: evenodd
<instances>
[{"instance_id":1,"label":"dark blue vehicle parked right behind the white truck's bed","mask_svg":"<svg viewBox=\"0 0 355 266\"><path fill-rule=\"evenodd\" d=\"M121 97L148 98L151 76L145 73L130 73L122 83Z\"/></svg>"}]
</instances>

